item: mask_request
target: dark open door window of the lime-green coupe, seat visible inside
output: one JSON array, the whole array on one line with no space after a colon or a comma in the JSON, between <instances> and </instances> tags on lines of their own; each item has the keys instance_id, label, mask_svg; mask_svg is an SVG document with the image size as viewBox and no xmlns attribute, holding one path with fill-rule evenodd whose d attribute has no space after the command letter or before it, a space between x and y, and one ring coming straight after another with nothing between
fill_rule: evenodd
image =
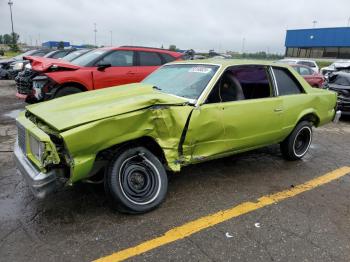
<instances>
[{"instance_id":1,"label":"dark open door window of the lime-green coupe, seat visible inside","mask_svg":"<svg viewBox=\"0 0 350 262\"><path fill-rule=\"evenodd\" d=\"M209 94L207 103L259 99L273 95L265 66L237 66L224 72Z\"/></svg>"}]
</instances>

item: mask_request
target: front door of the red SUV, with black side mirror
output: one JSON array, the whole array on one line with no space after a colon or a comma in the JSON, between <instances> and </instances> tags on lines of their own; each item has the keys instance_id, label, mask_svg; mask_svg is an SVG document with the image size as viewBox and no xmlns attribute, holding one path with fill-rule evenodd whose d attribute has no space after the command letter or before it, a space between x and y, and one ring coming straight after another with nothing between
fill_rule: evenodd
<instances>
[{"instance_id":1,"label":"front door of the red SUV, with black side mirror","mask_svg":"<svg viewBox=\"0 0 350 262\"><path fill-rule=\"evenodd\" d=\"M98 65L110 64L100 69ZM139 82L135 66L135 53L129 50L115 50L95 63L92 70L94 88L104 88Z\"/></svg>"}]
</instances>

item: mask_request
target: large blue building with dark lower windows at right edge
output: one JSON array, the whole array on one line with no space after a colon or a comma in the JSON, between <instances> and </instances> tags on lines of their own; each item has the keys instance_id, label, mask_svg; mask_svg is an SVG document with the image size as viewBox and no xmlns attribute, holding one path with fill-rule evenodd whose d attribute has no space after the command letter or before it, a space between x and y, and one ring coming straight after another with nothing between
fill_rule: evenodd
<instances>
[{"instance_id":1,"label":"large blue building with dark lower windows at right edge","mask_svg":"<svg viewBox=\"0 0 350 262\"><path fill-rule=\"evenodd\" d=\"M350 58L350 27L287 30L287 57Z\"/></svg>"}]
</instances>

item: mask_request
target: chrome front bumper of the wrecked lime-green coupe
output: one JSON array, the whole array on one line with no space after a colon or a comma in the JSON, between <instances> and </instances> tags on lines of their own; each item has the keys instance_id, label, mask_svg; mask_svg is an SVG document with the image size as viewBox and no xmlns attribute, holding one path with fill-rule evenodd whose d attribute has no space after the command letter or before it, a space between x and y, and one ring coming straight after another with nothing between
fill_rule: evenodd
<instances>
[{"instance_id":1,"label":"chrome front bumper of the wrecked lime-green coupe","mask_svg":"<svg viewBox=\"0 0 350 262\"><path fill-rule=\"evenodd\" d=\"M64 183L60 177L63 177L62 169L55 169L48 173L40 172L22 152L18 143L14 147L14 156L17 168L26 179L33 194L37 198L44 198L50 193L53 193L58 188L62 187Z\"/></svg>"}]
</instances>

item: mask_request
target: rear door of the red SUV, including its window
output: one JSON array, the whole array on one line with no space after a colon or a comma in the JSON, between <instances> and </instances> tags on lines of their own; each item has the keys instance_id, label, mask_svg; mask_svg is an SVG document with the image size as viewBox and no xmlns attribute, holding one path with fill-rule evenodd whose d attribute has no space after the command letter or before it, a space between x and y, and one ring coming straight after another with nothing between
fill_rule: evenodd
<instances>
[{"instance_id":1,"label":"rear door of the red SUV, including its window","mask_svg":"<svg viewBox=\"0 0 350 262\"><path fill-rule=\"evenodd\" d=\"M137 63L137 78L139 81L142 81L146 76L164 64L159 53L150 51L137 51Z\"/></svg>"}]
</instances>

